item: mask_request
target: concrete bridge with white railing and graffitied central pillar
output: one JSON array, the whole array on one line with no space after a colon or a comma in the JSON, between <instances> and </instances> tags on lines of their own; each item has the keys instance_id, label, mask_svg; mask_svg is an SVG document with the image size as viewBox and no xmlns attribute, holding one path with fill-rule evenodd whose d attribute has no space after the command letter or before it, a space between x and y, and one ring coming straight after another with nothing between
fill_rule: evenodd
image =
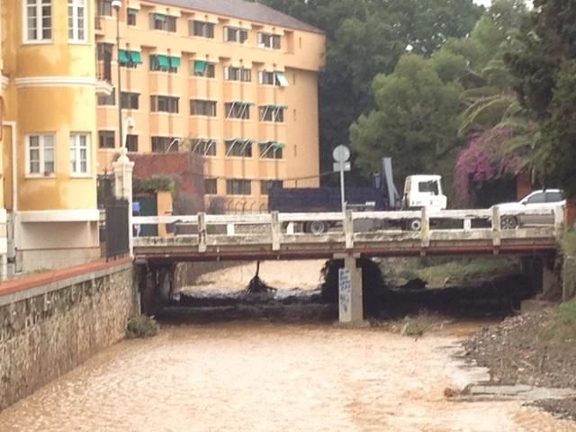
<instances>
[{"instance_id":1,"label":"concrete bridge with white railing and graffitied central pillar","mask_svg":"<svg viewBox=\"0 0 576 432\"><path fill-rule=\"evenodd\" d=\"M552 223L501 229L507 216L542 216ZM402 229L419 220L418 231ZM331 228L303 232L313 221ZM166 225L169 237L135 237L137 264L166 268L184 261L340 258L345 260L340 320L362 320L358 257L516 255L554 257L563 232L563 209L453 211L347 211L134 217L135 226ZM544 272L545 273L545 272ZM546 277L546 275L544 276ZM550 276L547 276L550 279ZM167 281L166 277L156 277ZM166 282L167 283L167 282ZM158 282L162 284L162 282ZM344 289L344 292L342 290Z\"/></svg>"}]
</instances>

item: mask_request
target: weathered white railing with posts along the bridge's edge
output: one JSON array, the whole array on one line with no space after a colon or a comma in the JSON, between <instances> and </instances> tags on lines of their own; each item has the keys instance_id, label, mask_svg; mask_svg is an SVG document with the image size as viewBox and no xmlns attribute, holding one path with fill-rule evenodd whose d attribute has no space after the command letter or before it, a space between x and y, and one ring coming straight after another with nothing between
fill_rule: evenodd
<instances>
[{"instance_id":1,"label":"weathered white railing with posts along the bridge's edge","mask_svg":"<svg viewBox=\"0 0 576 432\"><path fill-rule=\"evenodd\" d=\"M520 225L517 229L503 229L501 221L507 217L544 218L539 226ZM410 222L418 220L418 230L410 230ZM327 232L311 234L305 227L314 221L325 222ZM267 244L273 251L282 245L311 244L322 242L343 243L347 249L356 242L418 241L428 247L430 241L490 240L499 247L507 239L557 240L563 230L563 208L546 210L504 210L494 206L487 210L445 211L347 211L323 213L257 213L173 216L134 216L132 224L136 231L144 225L171 226L169 238L138 236L135 247L189 244L197 246L198 252L209 246L232 246L243 244ZM171 238L171 240L170 240ZM178 240L179 238L179 240Z\"/></svg>"}]
</instances>

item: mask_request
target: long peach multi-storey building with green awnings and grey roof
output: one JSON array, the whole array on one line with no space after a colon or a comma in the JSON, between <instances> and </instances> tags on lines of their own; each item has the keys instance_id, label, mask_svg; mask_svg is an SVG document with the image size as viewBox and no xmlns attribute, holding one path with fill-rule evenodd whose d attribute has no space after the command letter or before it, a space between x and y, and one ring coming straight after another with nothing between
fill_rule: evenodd
<instances>
[{"instance_id":1,"label":"long peach multi-storey building with green awnings and grey roof","mask_svg":"<svg viewBox=\"0 0 576 432\"><path fill-rule=\"evenodd\" d=\"M123 0L118 52L111 0L96 8L99 88L117 88L120 64L130 151L201 154L206 202L228 211L266 210L273 182L319 184L321 31L242 0ZM118 97L98 97L100 173L120 147Z\"/></svg>"}]
</instances>

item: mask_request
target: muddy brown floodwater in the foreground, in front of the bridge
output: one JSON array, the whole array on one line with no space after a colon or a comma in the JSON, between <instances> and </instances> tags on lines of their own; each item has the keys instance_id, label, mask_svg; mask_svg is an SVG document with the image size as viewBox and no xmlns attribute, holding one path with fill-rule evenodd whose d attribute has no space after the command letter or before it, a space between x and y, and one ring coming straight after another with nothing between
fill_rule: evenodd
<instances>
[{"instance_id":1,"label":"muddy brown floodwater in the foreground, in front of the bridge","mask_svg":"<svg viewBox=\"0 0 576 432\"><path fill-rule=\"evenodd\" d=\"M461 323L404 338L329 324L164 326L0 412L13 431L576 431L520 401L448 401L485 377L452 356Z\"/></svg>"}]
</instances>

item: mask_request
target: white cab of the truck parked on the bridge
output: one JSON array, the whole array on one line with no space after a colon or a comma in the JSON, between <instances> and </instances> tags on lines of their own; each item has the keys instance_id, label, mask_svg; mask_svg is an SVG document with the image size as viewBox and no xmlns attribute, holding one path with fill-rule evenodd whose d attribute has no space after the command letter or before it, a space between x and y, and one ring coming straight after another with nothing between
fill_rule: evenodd
<instances>
[{"instance_id":1,"label":"white cab of the truck parked on the bridge","mask_svg":"<svg viewBox=\"0 0 576 432\"><path fill-rule=\"evenodd\" d=\"M442 177L440 175L409 175L404 182L402 208L419 210L426 207L429 210L445 210L446 195L442 192Z\"/></svg>"}]
</instances>

